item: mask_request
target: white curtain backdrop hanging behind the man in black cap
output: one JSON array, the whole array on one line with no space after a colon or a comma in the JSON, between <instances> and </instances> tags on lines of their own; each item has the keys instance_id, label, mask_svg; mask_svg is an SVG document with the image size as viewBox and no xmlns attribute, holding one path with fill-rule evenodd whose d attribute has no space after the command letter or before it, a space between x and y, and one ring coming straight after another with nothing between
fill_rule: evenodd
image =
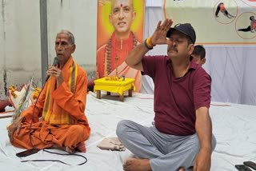
<instances>
[{"instance_id":1,"label":"white curtain backdrop hanging behind the man in black cap","mask_svg":"<svg viewBox=\"0 0 256 171\"><path fill-rule=\"evenodd\" d=\"M162 0L146 0L144 38L164 20L162 4ZM205 48L206 64L202 67L212 78L211 101L256 105L256 46ZM156 46L148 54L166 54L166 46ZM154 82L147 76L142 77L142 93L154 93Z\"/></svg>"}]
</instances>

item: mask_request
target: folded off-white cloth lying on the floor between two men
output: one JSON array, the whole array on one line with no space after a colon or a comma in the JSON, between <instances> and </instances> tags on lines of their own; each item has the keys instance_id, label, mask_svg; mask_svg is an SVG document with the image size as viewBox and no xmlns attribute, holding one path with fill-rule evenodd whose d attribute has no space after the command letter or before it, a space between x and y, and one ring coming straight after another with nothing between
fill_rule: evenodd
<instances>
[{"instance_id":1,"label":"folded off-white cloth lying on the floor between two men","mask_svg":"<svg viewBox=\"0 0 256 171\"><path fill-rule=\"evenodd\" d=\"M125 151L126 148L119 141L118 137L106 137L98 145L100 149L112 150L112 151Z\"/></svg>"}]
</instances>

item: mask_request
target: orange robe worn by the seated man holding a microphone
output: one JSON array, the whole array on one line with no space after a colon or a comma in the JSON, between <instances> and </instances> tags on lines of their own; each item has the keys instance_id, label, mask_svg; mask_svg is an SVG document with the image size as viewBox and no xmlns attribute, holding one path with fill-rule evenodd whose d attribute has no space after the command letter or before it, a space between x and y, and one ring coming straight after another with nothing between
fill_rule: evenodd
<instances>
[{"instance_id":1,"label":"orange robe worn by the seated man holding a microphone","mask_svg":"<svg viewBox=\"0 0 256 171\"><path fill-rule=\"evenodd\" d=\"M25 119L22 121L20 133L16 135L14 132L14 141L12 145L31 149L46 149L57 145L58 147L69 147L75 149L80 143L84 143L90 136L90 126L88 124L85 108L86 108L86 90L87 76L86 71L78 66L74 93L70 91L70 69L74 65L72 57L66 62L62 68L62 76L64 82L55 88L56 79L50 77L46 82L45 88L38 98L38 102L34 108L31 105L28 109L21 113ZM42 117L44 105L46 102L46 90L50 91L49 113L50 117L58 114L61 117L54 119L46 119ZM33 114L34 113L34 114ZM70 124L62 121L65 115L70 116ZM63 117L64 116L64 117ZM42 119L40 119L42 117ZM33 118L33 123L30 129L30 121ZM57 118L57 119L56 119ZM54 122L54 123L52 123ZM31 135L30 135L31 132ZM32 144L32 145L31 145ZM85 152L85 149L84 151Z\"/></svg>"}]
</instances>

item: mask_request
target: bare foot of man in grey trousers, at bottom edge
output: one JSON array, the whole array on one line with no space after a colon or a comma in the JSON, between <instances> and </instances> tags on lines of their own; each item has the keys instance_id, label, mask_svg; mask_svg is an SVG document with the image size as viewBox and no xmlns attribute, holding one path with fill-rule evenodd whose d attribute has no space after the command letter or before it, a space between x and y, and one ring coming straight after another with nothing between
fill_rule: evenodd
<instances>
[{"instance_id":1,"label":"bare foot of man in grey trousers, at bottom edge","mask_svg":"<svg viewBox=\"0 0 256 171\"><path fill-rule=\"evenodd\" d=\"M151 171L149 159L129 158L122 165L125 171Z\"/></svg>"}]
</instances>

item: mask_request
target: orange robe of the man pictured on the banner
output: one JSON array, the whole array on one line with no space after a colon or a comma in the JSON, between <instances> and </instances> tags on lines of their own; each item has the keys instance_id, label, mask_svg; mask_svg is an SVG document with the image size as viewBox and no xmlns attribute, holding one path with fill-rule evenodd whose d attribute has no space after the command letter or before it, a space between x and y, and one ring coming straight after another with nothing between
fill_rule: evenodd
<instances>
[{"instance_id":1,"label":"orange robe of the man pictured on the banner","mask_svg":"<svg viewBox=\"0 0 256 171\"><path fill-rule=\"evenodd\" d=\"M104 45L97 50L97 74L98 78L105 77L105 60L106 60L106 47ZM111 38L111 73L108 76L116 76L116 66L118 66L118 77L122 77L123 75L126 78L134 78L134 85L136 87L136 92L141 91L142 86L142 74L140 70L135 70L130 68L130 66L126 65L126 56L133 49L133 36L130 33L129 38L118 40L115 37L115 34L112 34ZM115 58L118 57L116 62Z\"/></svg>"}]
</instances>

